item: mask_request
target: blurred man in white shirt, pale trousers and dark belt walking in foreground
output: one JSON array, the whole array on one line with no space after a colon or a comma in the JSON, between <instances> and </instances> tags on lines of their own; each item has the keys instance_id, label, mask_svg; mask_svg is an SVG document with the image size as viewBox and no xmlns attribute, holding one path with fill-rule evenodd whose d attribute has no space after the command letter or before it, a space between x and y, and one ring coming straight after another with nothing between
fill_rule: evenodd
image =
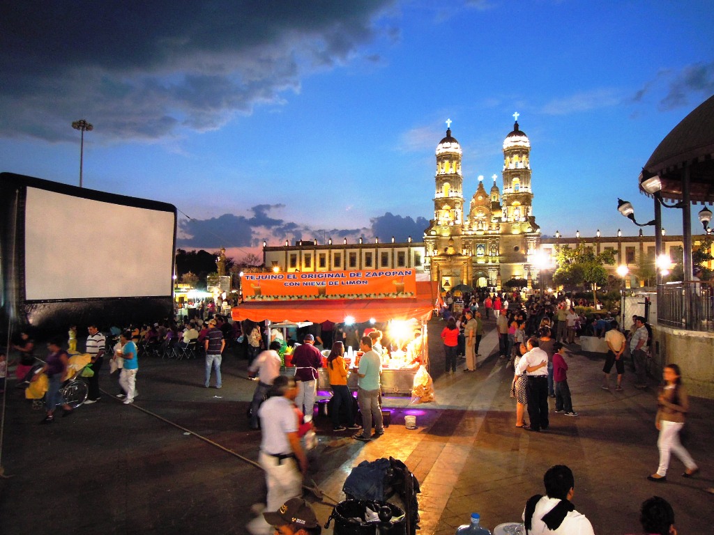
<instances>
[{"instance_id":1,"label":"blurred man in white shirt, pale trousers and dark belt walking in foreground","mask_svg":"<svg viewBox=\"0 0 714 535\"><path fill-rule=\"evenodd\" d=\"M262 430L258 462L266 474L268 511L276 511L289 499L302 496L308 459L301 445L300 424L293 405L297 393L294 377L278 375L273 380L273 397L258 409ZM253 535L267 535L271 533L271 524L272 520L258 515L246 528Z\"/></svg>"}]
</instances>

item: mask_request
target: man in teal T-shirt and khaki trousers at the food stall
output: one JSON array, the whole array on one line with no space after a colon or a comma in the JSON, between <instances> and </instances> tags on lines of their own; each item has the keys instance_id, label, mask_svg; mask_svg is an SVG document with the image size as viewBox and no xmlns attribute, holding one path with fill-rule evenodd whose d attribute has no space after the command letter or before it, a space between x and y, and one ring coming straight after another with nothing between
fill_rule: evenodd
<instances>
[{"instance_id":1,"label":"man in teal T-shirt and khaki trousers at the food stall","mask_svg":"<svg viewBox=\"0 0 714 535\"><path fill-rule=\"evenodd\" d=\"M363 336L360 341L360 350L364 352L359 368L354 371L359 377L357 381L357 402L362 413L362 432L354 434L353 439L369 442L373 438L384 434L382 422L382 407L379 406L380 382L382 361L376 351L372 350L372 339ZM374 417L374 434L372 433L372 417Z\"/></svg>"}]
</instances>

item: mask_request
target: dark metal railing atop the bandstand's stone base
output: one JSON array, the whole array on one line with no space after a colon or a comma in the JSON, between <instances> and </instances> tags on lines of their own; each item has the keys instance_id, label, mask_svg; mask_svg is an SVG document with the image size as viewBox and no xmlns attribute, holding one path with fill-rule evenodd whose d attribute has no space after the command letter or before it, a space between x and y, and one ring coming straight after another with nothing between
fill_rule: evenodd
<instances>
[{"instance_id":1,"label":"dark metal railing atop the bandstand's stone base","mask_svg":"<svg viewBox=\"0 0 714 535\"><path fill-rule=\"evenodd\" d=\"M659 325L690 331L714 331L714 292L705 282L686 281L659 285Z\"/></svg>"}]
</instances>

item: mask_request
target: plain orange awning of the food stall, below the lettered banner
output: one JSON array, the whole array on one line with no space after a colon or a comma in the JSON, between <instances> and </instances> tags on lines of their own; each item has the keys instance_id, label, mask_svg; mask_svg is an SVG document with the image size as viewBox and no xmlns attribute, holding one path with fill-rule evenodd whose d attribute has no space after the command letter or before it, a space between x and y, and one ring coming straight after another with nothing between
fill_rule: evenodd
<instances>
[{"instance_id":1,"label":"plain orange awning of the food stall, below the lettered banner","mask_svg":"<svg viewBox=\"0 0 714 535\"><path fill-rule=\"evenodd\" d=\"M282 322L285 320L331 321L341 323L351 316L355 322L378 322L387 320L427 321L433 312L436 300L436 282L417 282L416 297L412 299L316 299L290 301L244 302L233 308L235 321L253 320Z\"/></svg>"}]
</instances>

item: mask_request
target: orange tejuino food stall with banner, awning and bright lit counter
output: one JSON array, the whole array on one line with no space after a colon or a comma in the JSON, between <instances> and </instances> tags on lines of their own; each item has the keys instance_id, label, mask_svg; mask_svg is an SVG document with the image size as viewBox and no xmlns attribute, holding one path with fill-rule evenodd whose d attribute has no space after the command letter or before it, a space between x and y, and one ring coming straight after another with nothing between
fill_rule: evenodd
<instances>
[{"instance_id":1,"label":"orange tejuino food stall with banner, awning and bright lit counter","mask_svg":"<svg viewBox=\"0 0 714 535\"><path fill-rule=\"evenodd\" d=\"M428 369L426 321L436 283L417 281L416 270L250 273L241 282L244 301L232 310L235 321L386 324L394 347L382 358L385 394L411 394L419 365ZM359 356L353 355L353 364ZM356 387L356 379L351 374L348 384ZM318 388L328 387L321 370Z\"/></svg>"}]
</instances>

